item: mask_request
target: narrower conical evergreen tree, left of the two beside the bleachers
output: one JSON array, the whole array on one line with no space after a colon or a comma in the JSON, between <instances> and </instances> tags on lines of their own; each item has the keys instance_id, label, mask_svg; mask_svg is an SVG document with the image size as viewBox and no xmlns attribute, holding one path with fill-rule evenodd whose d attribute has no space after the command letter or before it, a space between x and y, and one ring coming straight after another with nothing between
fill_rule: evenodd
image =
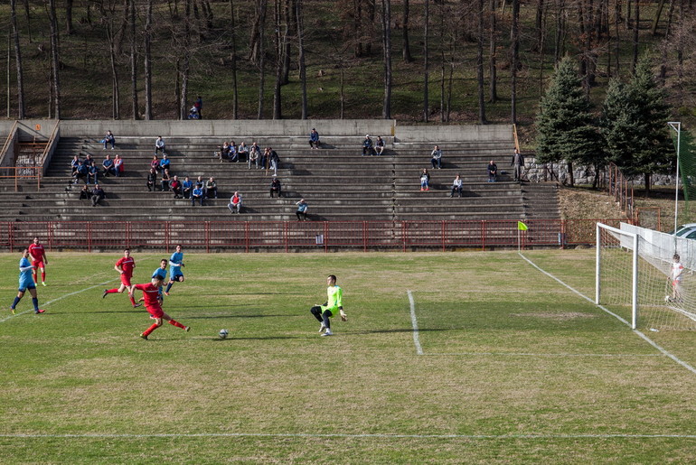
<instances>
[{"instance_id":1,"label":"narrower conical evergreen tree, left of the two beside the bleachers","mask_svg":"<svg viewBox=\"0 0 696 465\"><path fill-rule=\"evenodd\" d=\"M565 57L560 60L550 86L541 98L536 119L537 161L559 163L565 160L571 186L573 162L591 164L597 170L605 157L590 109L575 62Z\"/></svg>"}]
</instances>

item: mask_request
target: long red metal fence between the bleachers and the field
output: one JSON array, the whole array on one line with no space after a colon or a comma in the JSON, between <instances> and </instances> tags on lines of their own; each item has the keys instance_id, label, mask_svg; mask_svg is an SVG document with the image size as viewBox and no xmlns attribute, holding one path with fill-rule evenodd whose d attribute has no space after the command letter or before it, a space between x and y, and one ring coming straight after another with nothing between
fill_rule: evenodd
<instances>
[{"instance_id":1,"label":"long red metal fence between the bleachers and the field","mask_svg":"<svg viewBox=\"0 0 696 465\"><path fill-rule=\"evenodd\" d=\"M518 231L516 220L22 221L0 222L0 245L12 252L39 237L49 250L88 252L176 244L206 252L564 247L594 244L597 221L617 227L621 219L530 219L526 231Z\"/></svg>"}]
</instances>

